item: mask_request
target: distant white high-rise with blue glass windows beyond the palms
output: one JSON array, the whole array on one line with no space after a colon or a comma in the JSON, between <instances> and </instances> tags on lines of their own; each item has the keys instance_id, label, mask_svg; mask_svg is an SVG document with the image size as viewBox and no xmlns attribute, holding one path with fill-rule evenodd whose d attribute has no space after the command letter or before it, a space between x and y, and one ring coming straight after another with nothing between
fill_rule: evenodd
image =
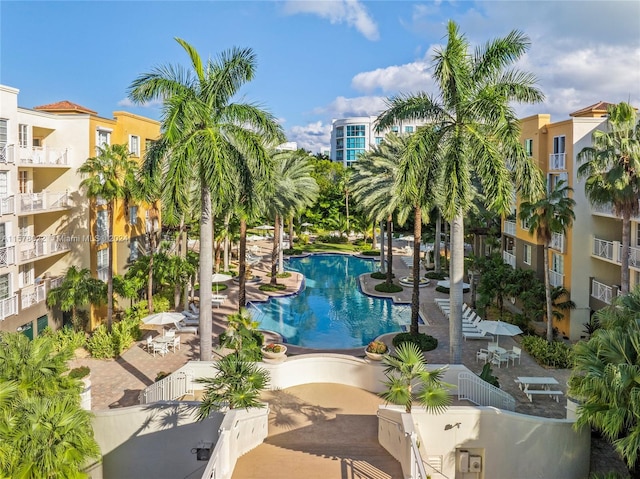
<instances>
[{"instance_id":1,"label":"distant white high-rise with blue glass windows beyond the palms","mask_svg":"<svg viewBox=\"0 0 640 479\"><path fill-rule=\"evenodd\" d=\"M331 161L351 166L372 145L379 145L384 135L389 132L413 133L416 128L424 125L423 121L412 120L399 122L382 132L376 131L376 116L359 116L343 118L331 122Z\"/></svg>"}]
</instances>

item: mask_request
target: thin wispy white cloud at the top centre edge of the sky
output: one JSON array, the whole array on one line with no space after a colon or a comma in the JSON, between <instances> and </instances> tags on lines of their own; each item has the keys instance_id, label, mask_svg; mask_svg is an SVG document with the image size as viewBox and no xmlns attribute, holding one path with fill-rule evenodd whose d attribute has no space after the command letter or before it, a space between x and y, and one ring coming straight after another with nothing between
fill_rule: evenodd
<instances>
[{"instance_id":1,"label":"thin wispy white cloud at the top centre edge of the sky","mask_svg":"<svg viewBox=\"0 0 640 479\"><path fill-rule=\"evenodd\" d=\"M362 33L368 40L378 40L378 25L358 0L294 0L287 1L284 11L288 15L311 13L326 18L332 24L346 23Z\"/></svg>"}]
</instances>

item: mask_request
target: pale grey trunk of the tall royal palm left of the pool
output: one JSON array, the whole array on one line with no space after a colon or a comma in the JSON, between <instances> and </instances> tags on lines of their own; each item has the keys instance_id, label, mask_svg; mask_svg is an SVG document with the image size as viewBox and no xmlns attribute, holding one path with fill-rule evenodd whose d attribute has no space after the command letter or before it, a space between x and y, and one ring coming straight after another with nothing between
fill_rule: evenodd
<instances>
[{"instance_id":1,"label":"pale grey trunk of the tall royal palm left of the pool","mask_svg":"<svg viewBox=\"0 0 640 479\"><path fill-rule=\"evenodd\" d=\"M211 284L213 272L213 215L211 190L205 184L201 191L200 218L200 360L211 361Z\"/></svg>"}]
</instances>

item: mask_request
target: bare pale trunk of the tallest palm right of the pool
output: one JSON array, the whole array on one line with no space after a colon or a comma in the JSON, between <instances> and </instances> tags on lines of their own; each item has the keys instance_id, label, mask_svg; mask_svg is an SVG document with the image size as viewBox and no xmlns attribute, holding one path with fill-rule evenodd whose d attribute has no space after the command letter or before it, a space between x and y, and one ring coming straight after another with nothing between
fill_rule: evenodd
<instances>
[{"instance_id":1,"label":"bare pale trunk of the tallest palm right of the pool","mask_svg":"<svg viewBox=\"0 0 640 479\"><path fill-rule=\"evenodd\" d=\"M464 217L459 212L451 222L449 263L449 362L462 364L462 280L464 276Z\"/></svg>"}]
</instances>

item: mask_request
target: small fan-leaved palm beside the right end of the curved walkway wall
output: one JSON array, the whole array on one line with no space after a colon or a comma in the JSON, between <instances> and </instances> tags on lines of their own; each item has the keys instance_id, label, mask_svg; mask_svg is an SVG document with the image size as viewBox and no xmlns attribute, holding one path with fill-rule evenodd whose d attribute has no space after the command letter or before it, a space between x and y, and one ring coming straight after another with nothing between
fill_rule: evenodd
<instances>
[{"instance_id":1,"label":"small fan-leaved palm beside the right end of the curved walkway wall","mask_svg":"<svg viewBox=\"0 0 640 479\"><path fill-rule=\"evenodd\" d=\"M417 401L427 411L443 413L451 404L449 384L442 382L444 369L427 369L424 354L415 343L405 342L396 348L395 355L385 354L385 390L380 393L385 401L404 406L411 412Z\"/></svg>"}]
</instances>

